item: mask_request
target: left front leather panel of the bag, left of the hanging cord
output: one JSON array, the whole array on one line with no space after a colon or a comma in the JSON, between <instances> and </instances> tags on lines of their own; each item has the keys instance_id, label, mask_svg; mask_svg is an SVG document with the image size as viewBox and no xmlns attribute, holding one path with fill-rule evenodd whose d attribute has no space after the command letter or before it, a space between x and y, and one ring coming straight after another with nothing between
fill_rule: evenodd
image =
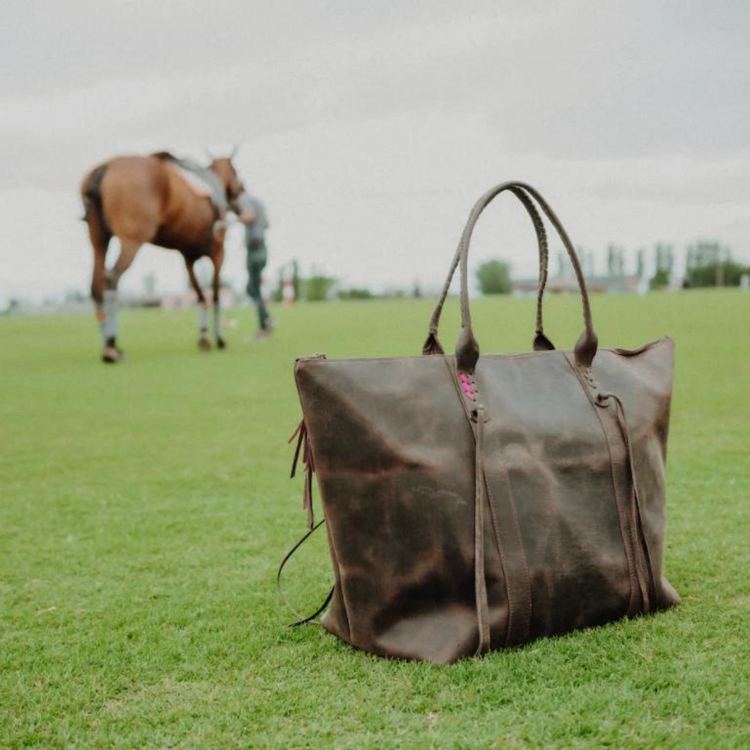
<instances>
[{"instance_id":1,"label":"left front leather panel of the bag, left of the hanging cord","mask_svg":"<svg viewBox=\"0 0 750 750\"><path fill-rule=\"evenodd\" d=\"M303 361L297 383L351 643L451 661L473 653L474 439L442 357ZM502 566L485 529L488 586ZM503 622L505 607L495 611Z\"/></svg>"}]
</instances>

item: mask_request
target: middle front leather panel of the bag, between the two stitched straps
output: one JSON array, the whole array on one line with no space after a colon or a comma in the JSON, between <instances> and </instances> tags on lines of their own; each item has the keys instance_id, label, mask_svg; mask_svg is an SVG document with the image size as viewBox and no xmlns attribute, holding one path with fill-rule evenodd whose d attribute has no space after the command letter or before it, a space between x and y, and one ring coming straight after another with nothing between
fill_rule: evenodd
<instances>
[{"instance_id":1,"label":"middle front leather panel of the bag, between the two stitched straps","mask_svg":"<svg viewBox=\"0 0 750 750\"><path fill-rule=\"evenodd\" d=\"M564 354L483 357L477 383L489 417L486 451L507 471L523 541L529 636L623 616L631 576L610 451ZM497 488L502 491L505 483Z\"/></svg>"}]
</instances>

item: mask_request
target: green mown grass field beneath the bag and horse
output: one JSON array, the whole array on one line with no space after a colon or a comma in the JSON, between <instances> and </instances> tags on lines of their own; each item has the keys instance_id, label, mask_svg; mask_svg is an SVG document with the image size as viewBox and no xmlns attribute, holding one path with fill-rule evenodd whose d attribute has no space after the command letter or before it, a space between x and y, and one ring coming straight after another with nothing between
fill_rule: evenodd
<instances>
[{"instance_id":1,"label":"green mown grass field beneath the bag and horse","mask_svg":"<svg viewBox=\"0 0 750 750\"><path fill-rule=\"evenodd\" d=\"M484 351L529 347L530 300L474 309ZM578 301L547 309L569 347ZM0 320L0 747L750 747L750 294L593 301L602 346L676 340L681 607L450 667L284 627L276 566L304 530L294 357L417 353L429 312L299 306L246 344L243 309L209 354L194 314L128 312L116 367L89 317ZM329 566L322 537L290 566L300 607Z\"/></svg>"}]
</instances>

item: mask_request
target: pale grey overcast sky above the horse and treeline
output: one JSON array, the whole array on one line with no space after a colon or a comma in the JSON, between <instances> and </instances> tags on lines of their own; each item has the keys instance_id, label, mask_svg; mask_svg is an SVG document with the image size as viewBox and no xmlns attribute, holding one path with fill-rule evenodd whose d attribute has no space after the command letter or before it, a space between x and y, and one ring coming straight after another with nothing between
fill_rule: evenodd
<instances>
[{"instance_id":1,"label":"pale grey overcast sky above the horse and treeline","mask_svg":"<svg viewBox=\"0 0 750 750\"><path fill-rule=\"evenodd\" d=\"M87 290L77 190L96 162L233 143L272 268L437 284L473 201L510 178L600 257L716 238L750 260L749 31L743 0L5 0L0 298ZM502 199L473 263L533 275L535 254ZM183 288L151 246L123 286L152 271Z\"/></svg>"}]
</instances>

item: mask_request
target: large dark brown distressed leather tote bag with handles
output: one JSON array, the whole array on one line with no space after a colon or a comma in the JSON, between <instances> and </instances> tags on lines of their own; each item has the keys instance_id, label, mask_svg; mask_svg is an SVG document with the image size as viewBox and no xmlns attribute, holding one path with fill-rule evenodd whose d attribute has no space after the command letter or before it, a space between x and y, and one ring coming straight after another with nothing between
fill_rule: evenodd
<instances>
[{"instance_id":1,"label":"large dark brown distressed leather tote bag with handles","mask_svg":"<svg viewBox=\"0 0 750 750\"><path fill-rule=\"evenodd\" d=\"M539 244L534 351L480 356L469 242L505 191ZM584 331L573 350L555 349L543 331L539 209L580 287ZM451 356L438 325L457 267L461 333ZM522 182L485 193L421 356L295 364L303 421L294 463L302 451L310 529L317 474L335 577L322 625L375 654L448 663L677 604L662 575L673 350L669 338L599 349L555 213Z\"/></svg>"}]
</instances>

